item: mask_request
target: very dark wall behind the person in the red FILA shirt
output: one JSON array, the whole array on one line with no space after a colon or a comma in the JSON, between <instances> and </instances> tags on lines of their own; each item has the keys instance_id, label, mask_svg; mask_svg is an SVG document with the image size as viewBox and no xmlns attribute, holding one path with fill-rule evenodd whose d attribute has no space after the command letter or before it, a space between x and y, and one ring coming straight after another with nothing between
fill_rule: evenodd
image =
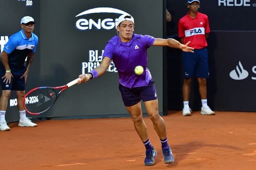
<instances>
[{"instance_id":1,"label":"very dark wall behind the person in the red FILA shirt","mask_svg":"<svg viewBox=\"0 0 256 170\"><path fill-rule=\"evenodd\" d=\"M186 0L168 0L172 21L167 24L168 37L178 39L177 24L186 15ZM253 52L256 38L256 0L200 1L199 12L208 15L211 33L208 53L210 78L208 104L216 111L255 112L256 59ZM182 110L183 70L181 52L168 48L168 109ZM201 109L198 83L191 87L190 107Z\"/></svg>"}]
</instances>

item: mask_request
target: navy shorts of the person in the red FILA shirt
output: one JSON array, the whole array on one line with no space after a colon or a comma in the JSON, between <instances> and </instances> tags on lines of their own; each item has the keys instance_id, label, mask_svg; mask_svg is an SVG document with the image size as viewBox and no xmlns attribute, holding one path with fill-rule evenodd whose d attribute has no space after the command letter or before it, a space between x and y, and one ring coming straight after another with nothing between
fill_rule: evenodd
<instances>
[{"instance_id":1,"label":"navy shorts of the person in the red FILA shirt","mask_svg":"<svg viewBox=\"0 0 256 170\"><path fill-rule=\"evenodd\" d=\"M194 49L194 52L183 52L182 62L185 78L209 78L208 51L206 48Z\"/></svg>"}]
</instances>

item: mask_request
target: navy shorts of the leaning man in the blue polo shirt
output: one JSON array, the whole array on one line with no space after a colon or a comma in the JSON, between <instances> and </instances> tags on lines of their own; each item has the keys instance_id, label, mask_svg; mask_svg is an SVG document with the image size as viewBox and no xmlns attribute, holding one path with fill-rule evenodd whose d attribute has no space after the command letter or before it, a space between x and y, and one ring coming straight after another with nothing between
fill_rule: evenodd
<instances>
[{"instance_id":1,"label":"navy shorts of the leaning man in the blue polo shirt","mask_svg":"<svg viewBox=\"0 0 256 170\"><path fill-rule=\"evenodd\" d=\"M5 68L0 66L0 78L1 79L1 87L2 90L17 90L17 91L24 91L25 90L25 78L20 78L23 73L25 72L25 69L15 69L11 68L11 72L13 77L11 78L11 83L4 82L4 78L2 78L5 75Z\"/></svg>"}]
</instances>

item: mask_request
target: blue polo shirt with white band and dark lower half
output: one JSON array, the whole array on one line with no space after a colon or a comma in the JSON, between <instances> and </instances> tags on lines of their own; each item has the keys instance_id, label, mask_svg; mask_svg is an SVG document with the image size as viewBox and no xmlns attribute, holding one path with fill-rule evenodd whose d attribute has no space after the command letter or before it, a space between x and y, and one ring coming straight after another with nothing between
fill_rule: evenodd
<instances>
[{"instance_id":1,"label":"blue polo shirt with white band and dark lower half","mask_svg":"<svg viewBox=\"0 0 256 170\"><path fill-rule=\"evenodd\" d=\"M32 33L31 38L28 39L23 30L16 34L13 34L9 41L4 46L4 51L8 53L8 63L10 69L24 69L24 62L29 53L34 53L36 51L36 46L38 44L38 37ZM3 66L2 61L0 64Z\"/></svg>"}]
</instances>

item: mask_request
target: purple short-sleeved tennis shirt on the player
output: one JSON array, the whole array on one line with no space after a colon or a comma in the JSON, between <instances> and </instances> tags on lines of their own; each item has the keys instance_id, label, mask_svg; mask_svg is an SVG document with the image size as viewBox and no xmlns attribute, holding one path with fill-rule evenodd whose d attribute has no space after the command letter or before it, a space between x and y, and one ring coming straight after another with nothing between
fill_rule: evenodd
<instances>
[{"instance_id":1,"label":"purple short-sleeved tennis shirt on the player","mask_svg":"<svg viewBox=\"0 0 256 170\"><path fill-rule=\"evenodd\" d=\"M147 68L147 48L152 46L155 40L152 36L133 34L130 42L121 42L119 36L107 42L103 58L109 57L113 60L119 74L120 84L129 88L148 85L152 77ZM138 65L144 68L141 75L134 72Z\"/></svg>"}]
</instances>

